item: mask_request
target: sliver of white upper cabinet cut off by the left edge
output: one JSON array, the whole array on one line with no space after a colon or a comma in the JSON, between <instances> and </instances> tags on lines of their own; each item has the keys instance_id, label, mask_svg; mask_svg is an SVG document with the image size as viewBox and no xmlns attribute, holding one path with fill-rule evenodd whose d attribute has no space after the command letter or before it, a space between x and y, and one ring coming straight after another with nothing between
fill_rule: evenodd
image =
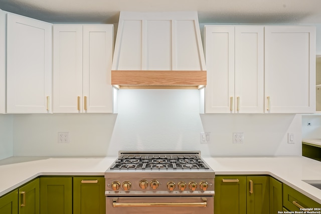
<instances>
[{"instance_id":1,"label":"sliver of white upper cabinet cut off by the left edge","mask_svg":"<svg viewBox=\"0 0 321 214\"><path fill-rule=\"evenodd\" d=\"M0 10L0 114L6 112L6 17Z\"/></svg>"}]
</instances>

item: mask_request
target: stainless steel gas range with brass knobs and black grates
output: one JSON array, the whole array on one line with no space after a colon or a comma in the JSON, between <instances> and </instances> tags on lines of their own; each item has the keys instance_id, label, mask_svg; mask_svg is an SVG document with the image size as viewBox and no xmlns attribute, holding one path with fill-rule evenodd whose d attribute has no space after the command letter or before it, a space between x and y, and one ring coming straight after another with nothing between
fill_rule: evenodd
<instances>
[{"instance_id":1,"label":"stainless steel gas range with brass knobs and black grates","mask_svg":"<svg viewBox=\"0 0 321 214\"><path fill-rule=\"evenodd\" d=\"M200 151L119 151L105 172L106 211L213 213L214 178Z\"/></svg>"}]
</instances>

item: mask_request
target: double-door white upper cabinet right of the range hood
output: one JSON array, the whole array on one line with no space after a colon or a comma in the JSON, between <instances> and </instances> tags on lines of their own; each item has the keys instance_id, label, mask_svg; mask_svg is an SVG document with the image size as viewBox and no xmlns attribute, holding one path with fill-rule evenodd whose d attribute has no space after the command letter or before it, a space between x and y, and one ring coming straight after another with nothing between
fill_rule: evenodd
<instances>
[{"instance_id":1,"label":"double-door white upper cabinet right of the range hood","mask_svg":"<svg viewBox=\"0 0 321 214\"><path fill-rule=\"evenodd\" d=\"M263 113L263 54L263 26L205 26L206 113Z\"/></svg>"}]
</instances>

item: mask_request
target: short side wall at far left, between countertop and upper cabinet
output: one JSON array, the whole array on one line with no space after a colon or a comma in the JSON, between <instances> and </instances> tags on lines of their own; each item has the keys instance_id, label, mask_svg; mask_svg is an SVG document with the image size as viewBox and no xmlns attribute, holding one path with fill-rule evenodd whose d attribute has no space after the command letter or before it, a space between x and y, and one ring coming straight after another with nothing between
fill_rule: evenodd
<instances>
[{"instance_id":1,"label":"short side wall at far left, between countertop and upper cabinet","mask_svg":"<svg viewBox=\"0 0 321 214\"><path fill-rule=\"evenodd\" d=\"M13 156L13 115L0 114L0 160Z\"/></svg>"}]
</instances>

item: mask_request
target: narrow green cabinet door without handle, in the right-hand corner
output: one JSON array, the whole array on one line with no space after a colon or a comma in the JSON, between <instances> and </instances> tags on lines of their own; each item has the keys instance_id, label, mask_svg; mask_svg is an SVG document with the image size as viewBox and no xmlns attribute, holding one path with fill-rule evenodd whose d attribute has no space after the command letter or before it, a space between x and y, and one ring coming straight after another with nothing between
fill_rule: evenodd
<instances>
[{"instance_id":1,"label":"narrow green cabinet door without handle, in the right-hand corner","mask_svg":"<svg viewBox=\"0 0 321 214\"><path fill-rule=\"evenodd\" d=\"M270 177L270 214L282 210L282 182Z\"/></svg>"}]
</instances>

